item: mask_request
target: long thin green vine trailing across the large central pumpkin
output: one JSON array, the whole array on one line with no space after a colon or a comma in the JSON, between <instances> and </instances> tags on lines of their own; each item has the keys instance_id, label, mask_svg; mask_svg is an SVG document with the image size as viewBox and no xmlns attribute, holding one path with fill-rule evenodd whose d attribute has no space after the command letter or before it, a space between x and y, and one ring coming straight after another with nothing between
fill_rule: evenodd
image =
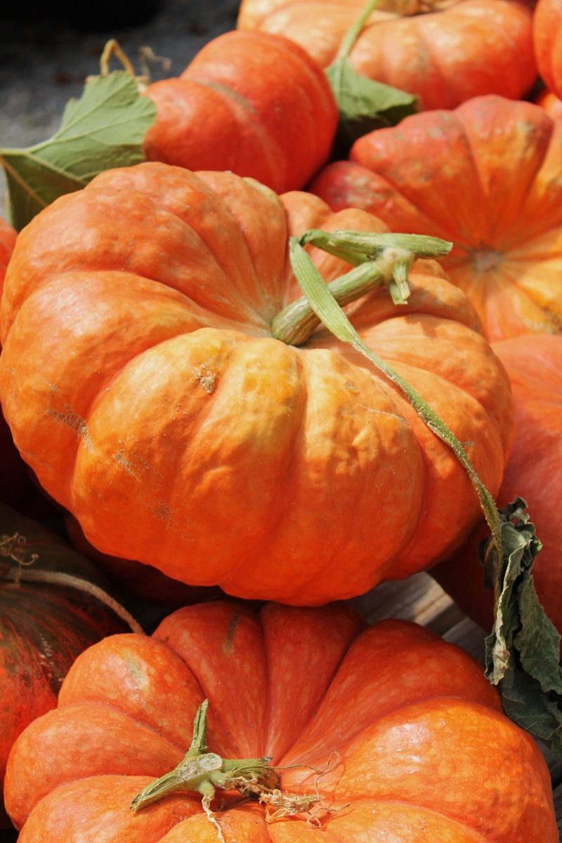
<instances>
[{"instance_id":1,"label":"long thin green vine trailing across the large central pumpkin","mask_svg":"<svg viewBox=\"0 0 562 843\"><path fill-rule=\"evenodd\" d=\"M309 234L309 233L308 233ZM381 360L380 357L372 352L372 350L361 340L361 337L351 325L350 320L345 315L344 311L341 309L340 304L334 298L330 285L324 283L324 279L316 269L311 260L310 256L305 252L302 248L302 243L307 242L314 242L316 245L320 245L320 248L324 248L321 243L320 239L314 239L311 241L308 237L308 234L303 235L302 238L291 238L289 242L289 255L292 265L292 270L297 278L297 282L299 283L302 292L304 293L305 297L308 300L310 307L313 309L313 312L317 315L320 322L328 328L340 341L348 342L353 348L356 349L357 352L360 352L363 357L367 357L367 360L372 362L375 367L386 377L392 381L393 384L396 384L399 389L404 393L404 395L408 398L409 403L418 413L422 421L424 421L427 427L430 428L432 432L436 434L438 438L442 440L442 442L446 443L449 448L452 449L453 453L457 456L458 461L463 465L463 468L466 470L470 481L472 482L474 489L476 490L480 506L484 512L484 517L490 527L490 532L492 534L492 545L490 545L493 550L495 550L496 559L498 560L498 565L500 564L500 560L502 558L502 541L501 541L501 526L500 526L500 517L498 514L497 507L495 506L494 498L491 496L490 491L484 486L484 483L480 480L477 471L474 469L474 465L471 463L470 459L468 458L468 454L463 448L463 445L458 441L458 438L452 432L452 430L447 427L442 418L436 414L436 412L431 408L430 405L426 403L426 401L421 397L421 395L413 389L407 381L402 378L399 373L395 372L393 368L388 366L388 363ZM399 245L402 247L404 246L404 239L409 238L414 235L408 234L385 234L385 235L361 235L360 238L353 237L352 244L353 249L359 251L361 254L366 254L366 244L362 244L361 248L361 239L367 238L368 240L372 239L372 237L396 237L399 240L397 241ZM424 238L422 243L420 244L420 249L424 249ZM435 238L427 238L428 241L434 240ZM329 243L329 241L328 241ZM437 241L437 244L441 244L441 248L445 249L447 246L450 247L450 244L445 244L444 241L440 240ZM428 244L428 248L431 244ZM337 246L336 246L337 248ZM448 249L447 249L448 251ZM332 250L332 254L335 254L334 250ZM418 251L418 254L425 254L427 252ZM441 254L445 254L442 252ZM343 254L339 254L339 256L344 256ZM375 258L377 260L377 258ZM403 270L401 270L402 272ZM404 276L401 276L401 281L404 282Z\"/></svg>"}]
</instances>

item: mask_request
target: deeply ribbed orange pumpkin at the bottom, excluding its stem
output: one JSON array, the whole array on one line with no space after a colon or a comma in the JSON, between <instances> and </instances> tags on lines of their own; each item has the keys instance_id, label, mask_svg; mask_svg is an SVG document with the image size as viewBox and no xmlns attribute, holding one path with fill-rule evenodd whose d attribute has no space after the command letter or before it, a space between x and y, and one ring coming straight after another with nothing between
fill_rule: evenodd
<instances>
[{"instance_id":1,"label":"deeply ribbed orange pumpkin at the bottom, excluding its stem","mask_svg":"<svg viewBox=\"0 0 562 843\"><path fill-rule=\"evenodd\" d=\"M110 636L77 659L56 711L10 755L19 843L216 840L190 794L129 808L179 763L204 696L210 751L295 765L280 771L281 788L311 793L318 781L335 808L322 830L306 816L266 826L263 806L231 808L217 814L227 841L414 843L422 830L451 843L558 840L542 755L458 647L406 621L367 629L341 604L267 604L256 615L222 602L179 609L152 638Z\"/></svg>"}]
</instances>

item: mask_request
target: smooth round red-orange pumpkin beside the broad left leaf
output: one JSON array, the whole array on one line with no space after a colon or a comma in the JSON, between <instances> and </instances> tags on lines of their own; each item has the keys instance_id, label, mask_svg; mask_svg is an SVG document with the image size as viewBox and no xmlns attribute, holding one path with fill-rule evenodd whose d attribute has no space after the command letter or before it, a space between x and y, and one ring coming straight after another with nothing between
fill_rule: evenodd
<instances>
[{"instance_id":1,"label":"smooth round red-orange pumpkin beside the broad left leaf","mask_svg":"<svg viewBox=\"0 0 562 843\"><path fill-rule=\"evenodd\" d=\"M280 192L301 188L325 164L338 123L324 73L280 35L220 35L179 78L146 94L157 105L149 161L228 169Z\"/></svg>"}]
</instances>

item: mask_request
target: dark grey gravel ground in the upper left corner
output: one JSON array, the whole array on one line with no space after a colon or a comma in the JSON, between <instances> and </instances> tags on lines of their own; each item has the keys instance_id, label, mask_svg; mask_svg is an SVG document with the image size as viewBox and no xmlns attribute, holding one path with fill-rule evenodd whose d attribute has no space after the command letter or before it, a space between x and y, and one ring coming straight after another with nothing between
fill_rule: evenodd
<instances>
[{"instance_id":1,"label":"dark grey gravel ground in the upper left corner","mask_svg":"<svg viewBox=\"0 0 562 843\"><path fill-rule=\"evenodd\" d=\"M138 3L137 16L147 19L134 25L129 23L130 0L73 0L79 19L77 9L64 0L54 5L56 17L45 17L33 2L19 13L0 11L0 148L27 147L51 137L67 100L79 97L84 79L99 72L99 56L110 38L119 41L137 72L142 69L140 48L149 46L169 60L169 69L163 62L151 62L151 78L178 76L207 41L235 28L239 5L238 0ZM151 11L155 13L148 17ZM115 25L123 16L127 24ZM3 171L0 215L8 216Z\"/></svg>"}]
</instances>

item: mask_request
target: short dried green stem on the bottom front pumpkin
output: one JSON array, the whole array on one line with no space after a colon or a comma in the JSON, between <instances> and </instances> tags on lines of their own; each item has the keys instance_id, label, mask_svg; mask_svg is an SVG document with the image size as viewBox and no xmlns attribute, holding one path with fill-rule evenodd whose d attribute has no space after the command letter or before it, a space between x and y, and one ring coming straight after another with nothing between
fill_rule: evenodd
<instances>
[{"instance_id":1,"label":"short dried green stem on the bottom front pumpkin","mask_svg":"<svg viewBox=\"0 0 562 843\"><path fill-rule=\"evenodd\" d=\"M217 753L207 752L208 706L208 701L203 701L195 714L193 738L185 757L174 770L152 781L136 794L131 803L132 811L146 808L171 793L190 791L201 794L203 809L209 816L216 790L238 790L244 797L248 797L260 796L262 792L270 792L278 787L279 777L274 768L269 766L269 759L227 759Z\"/></svg>"}]
</instances>

